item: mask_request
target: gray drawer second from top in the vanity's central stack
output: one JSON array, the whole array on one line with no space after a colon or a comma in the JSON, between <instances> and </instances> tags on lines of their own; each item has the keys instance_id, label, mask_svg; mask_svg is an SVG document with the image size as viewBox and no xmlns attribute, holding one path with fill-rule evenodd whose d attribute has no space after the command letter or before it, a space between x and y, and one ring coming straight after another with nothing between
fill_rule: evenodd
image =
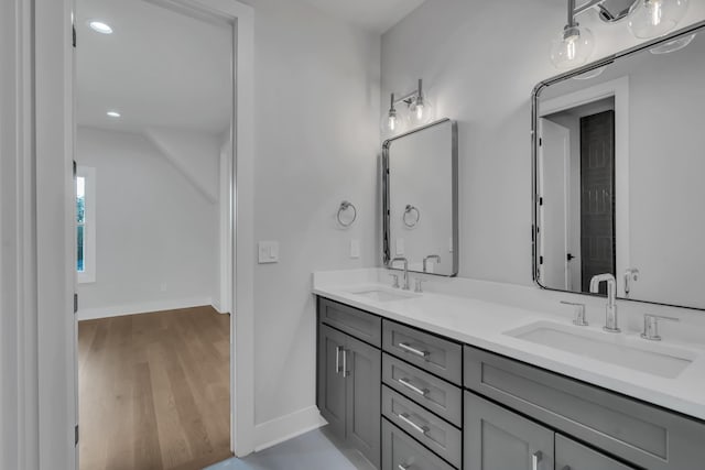
<instances>
[{"instance_id":1,"label":"gray drawer second from top in the vanity's central stack","mask_svg":"<svg viewBox=\"0 0 705 470\"><path fill-rule=\"evenodd\" d=\"M463 426L459 387L388 353L382 354L382 382L457 427Z\"/></svg>"}]
</instances>

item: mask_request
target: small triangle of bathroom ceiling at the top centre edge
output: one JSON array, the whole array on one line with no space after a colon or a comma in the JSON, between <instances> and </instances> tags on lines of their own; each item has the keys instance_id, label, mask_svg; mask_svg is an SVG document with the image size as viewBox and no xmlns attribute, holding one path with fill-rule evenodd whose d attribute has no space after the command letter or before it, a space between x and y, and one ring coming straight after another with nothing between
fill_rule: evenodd
<instances>
[{"instance_id":1,"label":"small triangle of bathroom ceiling at the top centre edge","mask_svg":"<svg viewBox=\"0 0 705 470\"><path fill-rule=\"evenodd\" d=\"M304 0L318 10L382 34L425 0Z\"/></svg>"}]
</instances>

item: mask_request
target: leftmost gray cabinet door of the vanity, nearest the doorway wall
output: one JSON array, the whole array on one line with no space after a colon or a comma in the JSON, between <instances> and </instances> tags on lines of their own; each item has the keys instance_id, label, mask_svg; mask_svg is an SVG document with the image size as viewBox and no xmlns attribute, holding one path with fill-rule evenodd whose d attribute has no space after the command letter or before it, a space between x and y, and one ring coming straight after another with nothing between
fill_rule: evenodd
<instances>
[{"instance_id":1,"label":"leftmost gray cabinet door of the vanity, nearest the doorway wall","mask_svg":"<svg viewBox=\"0 0 705 470\"><path fill-rule=\"evenodd\" d=\"M343 354L347 336L321 325L318 330L318 409L330 430L345 438L346 379Z\"/></svg>"}]
</instances>

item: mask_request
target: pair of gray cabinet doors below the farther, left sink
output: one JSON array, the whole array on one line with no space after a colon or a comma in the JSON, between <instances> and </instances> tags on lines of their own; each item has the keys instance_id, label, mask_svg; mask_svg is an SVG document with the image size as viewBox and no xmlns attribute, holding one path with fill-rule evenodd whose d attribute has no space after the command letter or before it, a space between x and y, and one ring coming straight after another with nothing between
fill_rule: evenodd
<instances>
[{"instance_id":1,"label":"pair of gray cabinet doors below the farther, left sink","mask_svg":"<svg viewBox=\"0 0 705 470\"><path fill-rule=\"evenodd\" d=\"M318 409L338 438L379 468L381 351L324 321L322 316L318 324Z\"/></svg>"}]
</instances>

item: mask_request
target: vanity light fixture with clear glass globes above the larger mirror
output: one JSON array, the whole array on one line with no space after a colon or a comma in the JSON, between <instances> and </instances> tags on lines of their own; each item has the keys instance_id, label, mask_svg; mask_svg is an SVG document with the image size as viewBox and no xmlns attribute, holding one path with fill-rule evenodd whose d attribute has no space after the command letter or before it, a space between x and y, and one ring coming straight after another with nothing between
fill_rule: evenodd
<instances>
[{"instance_id":1,"label":"vanity light fixture with clear glass globes above the larger mirror","mask_svg":"<svg viewBox=\"0 0 705 470\"><path fill-rule=\"evenodd\" d=\"M595 37L587 28L581 26L577 17L596 9L600 20L617 23L628 19L628 28L637 39L663 36L675 29L685 17L690 0L587 0L576 7L576 0L568 1L568 23L551 47L551 62L558 69L584 65L595 48ZM691 40L680 39L655 47L654 54L679 51Z\"/></svg>"}]
</instances>

